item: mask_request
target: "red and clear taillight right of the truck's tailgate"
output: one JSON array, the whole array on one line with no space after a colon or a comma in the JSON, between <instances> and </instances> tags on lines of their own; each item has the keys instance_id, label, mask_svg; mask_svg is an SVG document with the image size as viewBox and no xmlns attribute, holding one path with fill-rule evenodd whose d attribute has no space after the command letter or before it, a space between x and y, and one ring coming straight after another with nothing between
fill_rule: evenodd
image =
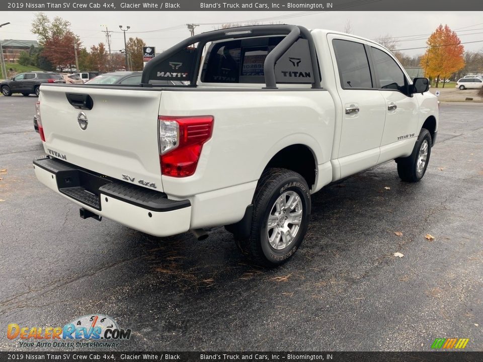
<instances>
[{"instance_id":1,"label":"red and clear taillight right of the truck's tailgate","mask_svg":"<svg viewBox=\"0 0 483 362\"><path fill-rule=\"evenodd\" d=\"M162 173L173 177L195 173L203 144L213 131L213 117L159 116L158 123Z\"/></svg>"}]
</instances>

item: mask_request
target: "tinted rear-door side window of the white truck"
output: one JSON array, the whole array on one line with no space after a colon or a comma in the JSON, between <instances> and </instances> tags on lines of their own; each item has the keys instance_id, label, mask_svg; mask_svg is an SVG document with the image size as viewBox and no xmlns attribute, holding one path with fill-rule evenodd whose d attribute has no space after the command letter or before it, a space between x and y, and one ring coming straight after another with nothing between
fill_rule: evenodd
<instances>
[{"instance_id":1,"label":"tinted rear-door side window of the white truck","mask_svg":"<svg viewBox=\"0 0 483 362\"><path fill-rule=\"evenodd\" d=\"M333 40L342 87L372 88L371 71L364 45L348 40Z\"/></svg>"}]
</instances>

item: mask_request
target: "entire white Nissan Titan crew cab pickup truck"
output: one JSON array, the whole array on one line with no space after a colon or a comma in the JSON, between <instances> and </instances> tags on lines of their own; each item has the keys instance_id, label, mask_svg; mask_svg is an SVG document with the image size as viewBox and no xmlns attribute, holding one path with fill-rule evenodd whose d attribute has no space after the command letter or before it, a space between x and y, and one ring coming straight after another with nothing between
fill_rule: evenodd
<instances>
[{"instance_id":1,"label":"entire white Nissan Titan crew cab pickup truck","mask_svg":"<svg viewBox=\"0 0 483 362\"><path fill-rule=\"evenodd\" d=\"M166 80L183 85L157 85ZM402 180L423 177L438 128L428 88L349 34L202 33L153 58L138 85L42 85L47 155L35 173L83 218L199 239L224 225L243 253L278 265L324 186L389 160Z\"/></svg>"}]
</instances>

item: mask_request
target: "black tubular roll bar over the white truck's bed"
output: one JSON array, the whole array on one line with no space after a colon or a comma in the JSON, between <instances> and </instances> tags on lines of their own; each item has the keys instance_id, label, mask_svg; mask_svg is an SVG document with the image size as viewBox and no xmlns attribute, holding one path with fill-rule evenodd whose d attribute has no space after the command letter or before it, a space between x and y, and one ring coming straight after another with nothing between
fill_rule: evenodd
<instances>
[{"instance_id":1,"label":"black tubular roll bar over the white truck's bed","mask_svg":"<svg viewBox=\"0 0 483 362\"><path fill-rule=\"evenodd\" d=\"M306 39L308 41L310 60L312 63L312 69L314 72L314 81L312 88L320 88L320 77L318 76L318 63L317 56L315 54L315 46L312 35L310 32L302 27L296 25L255 25L255 26L243 26L236 28L227 28L205 32L194 35L187 38L180 43L174 45L163 53L155 56L151 59L142 71L141 84L142 86L151 86L149 84L150 74L160 62L166 61L170 57L174 56L178 52L186 49L190 45L198 44L196 48L196 60L194 65L194 71L190 74L190 82L193 86L196 86L196 78L199 73L199 67L201 63L201 55L206 43L221 39L237 39L237 38L249 38L259 37L267 35L285 35L284 39L275 46L275 48L265 58L263 71L265 75L265 85L267 88L277 88L277 82L275 80L275 63L280 57L294 44L299 38Z\"/></svg>"}]
</instances>

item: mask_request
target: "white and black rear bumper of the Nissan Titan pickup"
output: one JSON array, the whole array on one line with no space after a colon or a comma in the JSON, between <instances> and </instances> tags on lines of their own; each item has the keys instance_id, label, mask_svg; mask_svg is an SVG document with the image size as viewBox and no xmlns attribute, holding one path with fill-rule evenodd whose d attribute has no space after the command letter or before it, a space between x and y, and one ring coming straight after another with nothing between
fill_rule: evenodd
<instances>
[{"instance_id":1,"label":"white and black rear bumper of the Nissan Titan pickup","mask_svg":"<svg viewBox=\"0 0 483 362\"><path fill-rule=\"evenodd\" d=\"M190 229L189 200L169 200L164 193L111 179L56 158L34 160L38 180L75 204L154 236Z\"/></svg>"}]
</instances>

